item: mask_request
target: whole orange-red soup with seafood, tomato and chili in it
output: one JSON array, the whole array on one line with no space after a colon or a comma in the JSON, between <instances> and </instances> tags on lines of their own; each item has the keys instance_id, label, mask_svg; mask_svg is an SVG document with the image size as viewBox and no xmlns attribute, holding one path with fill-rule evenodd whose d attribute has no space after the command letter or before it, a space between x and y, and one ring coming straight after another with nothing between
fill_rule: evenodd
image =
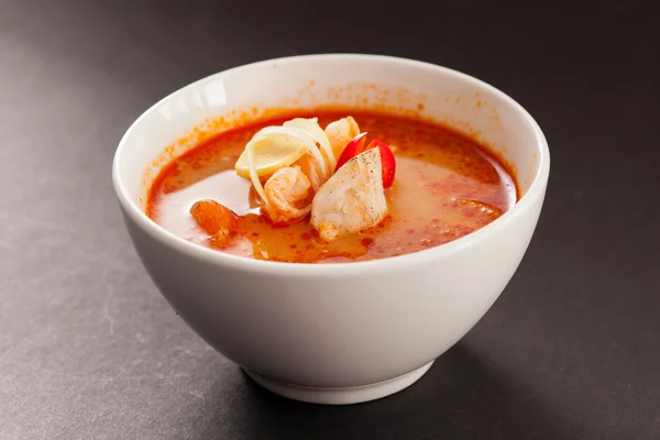
<instances>
[{"instance_id":1,"label":"whole orange-red soup with seafood, tomato and chili in it","mask_svg":"<svg viewBox=\"0 0 660 440\"><path fill-rule=\"evenodd\" d=\"M474 140L422 120L333 110L195 146L160 173L146 211L219 252L342 263L448 243L517 199L513 174Z\"/></svg>"}]
</instances>

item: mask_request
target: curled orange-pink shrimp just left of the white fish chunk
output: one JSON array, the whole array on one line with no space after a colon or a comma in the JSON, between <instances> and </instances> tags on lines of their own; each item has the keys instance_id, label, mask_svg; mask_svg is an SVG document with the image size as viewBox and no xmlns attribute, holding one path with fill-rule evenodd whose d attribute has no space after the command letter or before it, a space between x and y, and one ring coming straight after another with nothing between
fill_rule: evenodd
<instances>
[{"instance_id":1,"label":"curled orange-pink shrimp just left of the white fish chunk","mask_svg":"<svg viewBox=\"0 0 660 440\"><path fill-rule=\"evenodd\" d=\"M279 168L266 182L262 209L275 223L301 219L311 210L311 205L299 208L310 188L311 184L299 166Z\"/></svg>"}]
</instances>

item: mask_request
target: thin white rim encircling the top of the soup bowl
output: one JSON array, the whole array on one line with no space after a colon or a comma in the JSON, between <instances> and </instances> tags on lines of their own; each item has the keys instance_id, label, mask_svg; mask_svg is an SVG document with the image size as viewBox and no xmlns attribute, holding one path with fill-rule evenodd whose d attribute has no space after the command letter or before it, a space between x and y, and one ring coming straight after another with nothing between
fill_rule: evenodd
<instances>
[{"instance_id":1,"label":"thin white rim encircling the top of the soup bowl","mask_svg":"<svg viewBox=\"0 0 660 440\"><path fill-rule=\"evenodd\" d=\"M211 250L209 248L189 242L173 232L167 231L165 228L153 221L146 212L144 212L139 205L129 197L125 190L122 178L120 175L120 158L127 147L128 140L131 136L133 130L142 123L142 121L164 102L174 99L178 95L185 94L189 89L199 87L200 85L215 80L218 77L228 75L230 73L237 73L241 69L260 68L262 66L272 65L277 63L283 65L286 63L299 63L299 62L314 62L319 59L360 59L367 62L386 62L395 63L407 66L413 69L426 69L435 73L442 73L444 75L454 76L461 78L468 82L471 82L475 88L485 89L488 92L498 96L505 102L507 102L513 109L517 110L526 122L531 127L536 145L539 150L538 161L540 166L537 173L531 179L531 184L527 193L516 202L512 209L506 211L503 216L486 224L485 227L471 232L460 239L453 240L449 243L444 243L438 246L429 248L424 251L414 253L391 256L378 260L369 260L360 262L342 262L342 263L289 263L289 262L274 262L267 260L249 258L245 256L232 255L224 252ZM402 268L416 266L428 263L432 260L438 260L447 255L457 253L463 249L472 246L475 242L487 239L491 235L499 233L506 228L507 223L513 221L515 218L525 215L535 202L538 197L543 197L546 186L550 174L550 151L548 148L548 142L543 135L540 127L535 119L529 114L522 106L520 106L512 97L503 92L502 90L491 86L490 84L482 81L473 76L463 74L461 72L439 66L436 64L415 61L409 58L387 56L387 55L371 55L371 54L352 54L352 53L333 53L333 54L311 54L311 55L294 55L279 58L271 58L261 62L250 63L232 67L226 70L218 72L216 74L204 77L199 80L190 82L178 90L162 98L148 109L146 109L125 131L121 138L119 145L114 152L114 158L112 161L112 184L114 193L119 199L119 202L124 213L144 232L151 235L154 240L162 244L174 249L177 252L185 254L188 257L201 260L210 264L218 264L227 266L231 270L249 272L249 273L273 273L273 274L285 274L285 275L350 275L350 274L376 274L383 273L393 268Z\"/></svg>"}]
</instances>

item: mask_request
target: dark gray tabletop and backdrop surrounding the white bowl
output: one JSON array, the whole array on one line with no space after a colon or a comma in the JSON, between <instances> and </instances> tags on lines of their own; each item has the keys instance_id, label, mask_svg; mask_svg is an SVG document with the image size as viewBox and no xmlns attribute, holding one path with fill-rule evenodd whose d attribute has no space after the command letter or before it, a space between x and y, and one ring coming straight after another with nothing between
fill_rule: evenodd
<instances>
[{"instance_id":1,"label":"dark gray tabletop and backdrop surrounding the white bowl","mask_svg":"<svg viewBox=\"0 0 660 440\"><path fill-rule=\"evenodd\" d=\"M660 438L656 15L354 3L0 0L1 439ZM531 112L553 161L491 311L413 387L351 407L273 396L200 341L142 268L110 183L118 141L161 97L314 52L482 78Z\"/></svg>"}]
</instances>

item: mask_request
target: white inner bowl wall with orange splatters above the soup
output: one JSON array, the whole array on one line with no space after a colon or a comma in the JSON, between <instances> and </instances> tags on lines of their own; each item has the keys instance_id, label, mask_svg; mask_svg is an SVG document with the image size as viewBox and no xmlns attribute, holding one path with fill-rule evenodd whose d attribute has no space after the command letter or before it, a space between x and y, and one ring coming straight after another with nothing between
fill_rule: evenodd
<instances>
[{"instance_id":1,"label":"white inner bowl wall with orange splatters above the soup","mask_svg":"<svg viewBox=\"0 0 660 440\"><path fill-rule=\"evenodd\" d=\"M470 76L400 58L314 55L227 70L157 102L122 139L116 183L143 211L153 178L197 142L268 113L328 106L420 116L470 134L512 168L522 196L547 156L531 117Z\"/></svg>"}]
</instances>

